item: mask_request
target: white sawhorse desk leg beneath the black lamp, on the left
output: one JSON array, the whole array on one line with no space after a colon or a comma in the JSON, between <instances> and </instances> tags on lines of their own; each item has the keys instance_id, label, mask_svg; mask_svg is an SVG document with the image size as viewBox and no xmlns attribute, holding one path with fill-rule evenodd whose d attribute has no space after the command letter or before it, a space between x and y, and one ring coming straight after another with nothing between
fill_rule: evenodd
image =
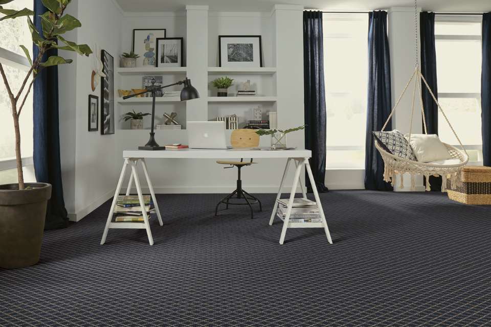
<instances>
[{"instance_id":1,"label":"white sawhorse desk leg beneath the black lamp, on the left","mask_svg":"<svg viewBox=\"0 0 491 327\"><path fill-rule=\"evenodd\" d=\"M126 188L126 195L129 195L130 190L131 190L131 186L133 183L133 179L134 179L135 180L135 186L137 188L138 199L140 201L140 206L142 208L145 207L145 202L143 200L142 187L141 187L140 179L138 177L138 172L137 172L137 164L138 164L139 160L141 160L141 162L142 162L142 167L143 167L143 172L145 174L145 179L146 179L147 184L148 184L148 189L150 191L151 198L153 199L153 205L155 207L155 214L157 214L159 224L161 226L164 225L163 221L162 221L162 216L160 214L159 205L157 203L157 198L155 197L155 193L153 191L153 185L151 183L150 176L148 175L147 165L146 165L145 159L144 158L125 158L124 163L123 163L123 168L121 170L121 175L119 177L119 181L118 181L118 184L116 186L116 192L114 194L113 203L111 203L109 215L107 216L106 225L104 227L104 232L102 234L101 245L106 242L107 232L109 231L109 228L145 229L147 231L148 242L150 243L150 245L153 245L152 232L150 230L150 224L148 222L149 217L148 217L145 210L142 211L142 216L143 216L143 222L142 223L136 223L136 222L118 222L118 223L116 223L116 222L112 222L114 211L116 208L116 202L117 202L118 196L121 192L124 176L126 174L126 168L128 167L128 165L131 167L131 174L129 177L128 186Z\"/></svg>"}]
</instances>

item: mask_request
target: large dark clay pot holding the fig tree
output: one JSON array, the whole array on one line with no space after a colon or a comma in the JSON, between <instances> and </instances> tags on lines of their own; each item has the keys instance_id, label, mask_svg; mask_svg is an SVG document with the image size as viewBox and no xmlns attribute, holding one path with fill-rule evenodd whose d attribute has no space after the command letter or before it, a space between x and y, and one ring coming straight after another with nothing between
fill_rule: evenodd
<instances>
[{"instance_id":1,"label":"large dark clay pot holding the fig tree","mask_svg":"<svg viewBox=\"0 0 491 327\"><path fill-rule=\"evenodd\" d=\"M27 267L39 261L51 184L0 185L0 267Z\"/></svg>"}]
</instances>

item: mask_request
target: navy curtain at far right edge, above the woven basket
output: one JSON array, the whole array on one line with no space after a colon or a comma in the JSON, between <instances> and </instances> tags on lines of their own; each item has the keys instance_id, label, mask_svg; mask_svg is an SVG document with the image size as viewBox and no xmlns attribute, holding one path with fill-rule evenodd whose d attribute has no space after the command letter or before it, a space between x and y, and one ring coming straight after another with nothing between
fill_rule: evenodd
<instances>
[{"instance_id":1,"label":"navy curtain at far right edge, above the woven basket","mask_svg":"<svg viewBox=\"0 0 491 327\"><path fill-rule=\"evenodd\" d=\"M482 157L491 166L491 12L482 15L481 71Z\"/></svg>"}]
</instances>

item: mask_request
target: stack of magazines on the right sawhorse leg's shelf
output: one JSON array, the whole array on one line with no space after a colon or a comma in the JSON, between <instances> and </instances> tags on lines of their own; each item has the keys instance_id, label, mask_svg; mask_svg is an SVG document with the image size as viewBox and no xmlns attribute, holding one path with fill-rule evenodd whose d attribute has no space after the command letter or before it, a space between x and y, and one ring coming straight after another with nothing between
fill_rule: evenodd
<instances>
[{"instance_id":1,"label":"stack of magazines on the right sawhorse leg's shelf","mask_svg":"<svg viewBox=\"0 0 491 327\"><path fill-rule=\"evenodd\" d=\"M278 200L278 210L276 215L284 220L286 217L287 206L289 199ZM322 222L322 218L317 207L317 203L307 199L294 199L292 213L290 214L289 222L292 223L313 223Z\"/></svg>"}]
</instances>

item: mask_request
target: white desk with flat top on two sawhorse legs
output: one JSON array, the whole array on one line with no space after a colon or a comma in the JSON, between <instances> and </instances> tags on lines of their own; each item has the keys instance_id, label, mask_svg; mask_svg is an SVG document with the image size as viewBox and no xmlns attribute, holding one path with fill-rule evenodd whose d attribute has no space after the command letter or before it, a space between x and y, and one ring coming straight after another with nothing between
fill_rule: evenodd
<instances>
[{"instance_id":1,"label":"white desk with flat top on two sawhorse legs","mask_svg":"<svg viewBox=\"0 0 491 327\"><path fill-rule=\"evenodd\" d=\"M143 213L143 222L113 222L113 215L114 215L114 209L116 206L116 200L118 195L120 194L122 184L123 184L123 179L126 173L126 169L131 167L131 175L129 178L128 186L126 188L126 195L129 195L133 179L135 180L135 185L137 188L137 193L138 197L140 199L140 204L142 207L144 207L144 201L143 201L143 193L142 193L142 187L140 180L138 178L137 174L137 165L138 162L141 162L143 172L145 174L145 179L148 184L148 189L150 190L150 195L151 198L153 199L153 203L155 206L155 213L157 214L157 218L159 220L159 224L163 226L162 222L162 217L159 211L159 206L157 203L157 198L155 198L155 193L153 191L153 186L150 180L150 177L148 175L147 171L147 165L145 162L145 159L147 158L153 158L153 159L162 159L162 158L180 158L180 159L237 159L237 158L285 158L286 159L286 165L285 169L283 171L283 176L281 177L281 182L278 190L278 194L276 196L276 201L275 205L273 208L273 212L271 214L271 219L270 219L270 225L273 224L273 221L276 216L276 210L278 208L278 200L280 199L281 196L281 188L283 186L283 182L286 176L286 172L288 171L288 166L290 162L295 162L296 170L295 170L295 177L292 185L292 190L290 192L289 196L289 203L293 203L293 199L295 198L295 193L297 190L297 186L300 184L300 188L302 190L302 195L304 198L307 198L305 189L302 185L301 179L300 179L300 173L302 170L302 166L305 166L305 169L307 171L310 184L313 185L313 191L314 191L314 197L316 199L317 205L319 206L320 213L321 213L321 218L322 222L312 222L312 223L291 223L289 222L289 218L291 215L292 211L292 204L289 204L287 207L286 211L286 216L283 222L283 228L281 230L281 236L280 236L280 244L283 244L285 235L286 235L286 229L287 228L324 228L324 231L326 233L327 241L332 244L332 240L329 234L329 228L327 227L327 222L326 218L324 216L324 211L322 209L322 204L319 199L319 194L317 193L317 189L315 188L315 181L314 181L314 176L312 175L312 171L310 169L310 165L308 164L308 158L311 157L311 151L310 150L304 150L304 149L296 149L296 150L278 150L278 151L267 151L267 150L252 150L252 149L244 149L244 148L235 148L235 149L228 149L228 150L212 150L212 149L181 149L181 150L164 150L164 151L149 151L149 150L125 150L123 151L123 169L121 170L121 175L118 181L118 184L116 186L116 192L114 195L113 203L111 204L111 208L109 211L109 215L107 217L107 222L106 226L104 228L104 233L102 235L102 240L101 244L104 244L106 241L107 237L107 232L110 228L142 228L146 229L147 231L147 236L148 236L148 242L150 245L153 245L153 238L152 238L152 233L150 230L150 225L148 223L148 216L144 212Z\"/></svg>"}]
</instances>

